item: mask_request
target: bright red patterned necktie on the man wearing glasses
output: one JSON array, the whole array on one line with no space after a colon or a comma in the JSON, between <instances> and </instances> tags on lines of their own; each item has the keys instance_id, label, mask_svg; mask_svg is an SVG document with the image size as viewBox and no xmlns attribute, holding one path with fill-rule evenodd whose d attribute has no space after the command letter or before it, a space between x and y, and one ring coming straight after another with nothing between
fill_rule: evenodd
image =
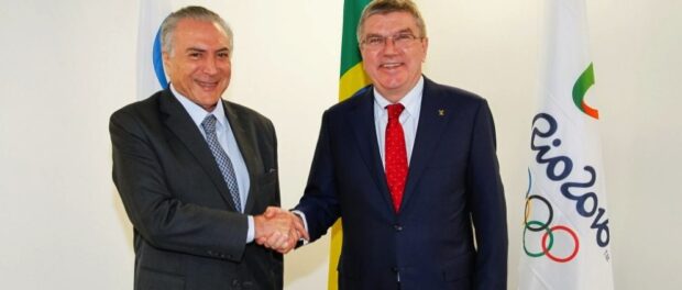
<instances>
[{"instance_id":1,"label":"bright red patterned necktie on the man wearing glasses","mask_svg":"<svg viewBox=\"0 0 682 290\"><path fill-rule=\"evenodd\" d=\"M407 179L407 149L405 148L405 133L399 120L405 107L395 103L387 105L386 109L388 109L388 125L386 125L386 144L384 147L386 182L393 199L393 208L398 212Z\"/></svg>"}]
</instances>

